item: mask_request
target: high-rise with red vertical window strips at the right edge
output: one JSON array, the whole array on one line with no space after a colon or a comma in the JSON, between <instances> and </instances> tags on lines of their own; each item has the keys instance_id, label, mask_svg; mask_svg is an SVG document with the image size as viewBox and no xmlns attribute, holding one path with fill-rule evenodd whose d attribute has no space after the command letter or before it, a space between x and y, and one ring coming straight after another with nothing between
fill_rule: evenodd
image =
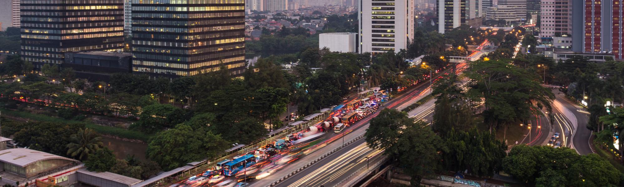
<instances>
[{"instance_id":1,"label":"high-rise with red vertical window strips at the right edge","mask_svg":"<svg viewBox=\"0 0 624 187\"><path fill-rule=\"evenodd\" d=\"M623 59L624 1L572 1L572 50L575 52L611 52Z\"/></svg>"}]
</instances>

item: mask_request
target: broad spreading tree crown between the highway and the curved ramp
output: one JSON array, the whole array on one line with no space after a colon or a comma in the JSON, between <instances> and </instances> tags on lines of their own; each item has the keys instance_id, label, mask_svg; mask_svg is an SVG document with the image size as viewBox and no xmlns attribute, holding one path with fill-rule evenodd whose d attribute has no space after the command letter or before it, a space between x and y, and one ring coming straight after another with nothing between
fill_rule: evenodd
<instances>
[{"instance_id":1,"label":"broad spreading tree crown between the highway and the curved ramp","mask_svg":"<svg viewBox=\"0 0 624 187\"><path fill-rule=\"evenodd\" d=\"M511 60L476 61L466 72L470 78L469 98L484 98L485 123L490 130L517 120L530 118L540 110L537 102L551 110L554 98L550 89L542 87L539 77L525 69L510 64Z\"/></svg>"}]
</instances>

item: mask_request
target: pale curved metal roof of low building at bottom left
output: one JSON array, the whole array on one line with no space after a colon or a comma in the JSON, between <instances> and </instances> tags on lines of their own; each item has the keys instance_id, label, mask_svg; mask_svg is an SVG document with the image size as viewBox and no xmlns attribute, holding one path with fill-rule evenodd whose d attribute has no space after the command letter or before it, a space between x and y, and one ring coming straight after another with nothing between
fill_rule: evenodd
<instances>
[{"instance_id":1,"label":"pale curved metal roof of low building at bottom left","mask_svg":"<svg viewBox=\"0 0 624 187\"><path fill-rule=\"evenodd\" d=\"M0 151L0 161L4 163L11 163L12 165L20 166L22 168L27 165L31 165L32 163L36 163L37 161L51 159L77 161L71 158L65 158L63 156L52 155L50 153L27 148L14 148Z\"/></svg>"}]
</instances>

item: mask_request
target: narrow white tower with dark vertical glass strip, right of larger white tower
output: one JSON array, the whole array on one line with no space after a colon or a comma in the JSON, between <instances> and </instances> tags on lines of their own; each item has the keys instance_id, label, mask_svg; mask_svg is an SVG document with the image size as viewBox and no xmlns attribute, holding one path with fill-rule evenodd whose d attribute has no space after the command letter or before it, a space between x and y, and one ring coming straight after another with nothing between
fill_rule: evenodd
<instances>
[{"instance_id":1,"label":"narrow white tower with dark vertical glass strip, right of larger white tower","mask_svg":"<svg viewBox=\"0 0 624 187\"><path fill-rule=\"evenodd\" d=\"M466 23L466 0L437 1L437 31L444 34Z\"/></svg>"}]
</instances>

